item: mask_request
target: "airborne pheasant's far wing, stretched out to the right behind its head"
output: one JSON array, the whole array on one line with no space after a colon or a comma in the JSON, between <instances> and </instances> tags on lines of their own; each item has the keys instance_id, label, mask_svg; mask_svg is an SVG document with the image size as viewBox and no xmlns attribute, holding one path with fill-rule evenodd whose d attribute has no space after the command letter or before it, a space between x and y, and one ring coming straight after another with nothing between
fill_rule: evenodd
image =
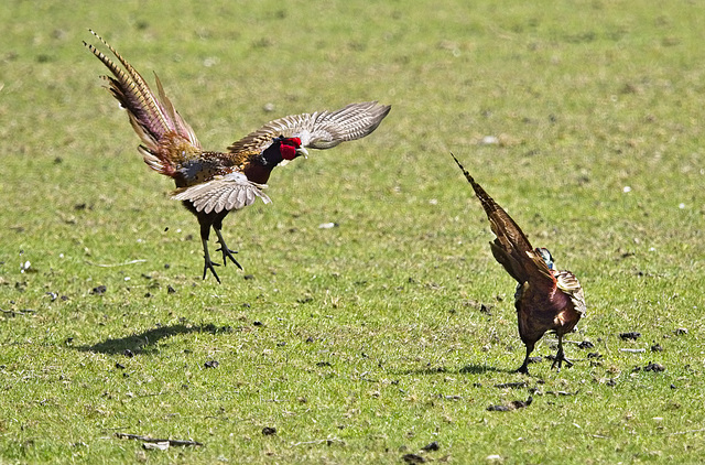
<instances>
[{"instance_id":1,"label":"airborne pheasant's far wing, stretched out to the right behind its head","mask_svg":"<svg viewBox=\"0 0 705 465\"><path fill-rule=\"evenodd\" d=\"M377 101L350 104L337 111L292 115L268 122L228 147L230 153L259 153L272 140L297 137L305 148L330 149L340 142L371 133L389 113L390 106Z\"/></svg>"}]
</instances>

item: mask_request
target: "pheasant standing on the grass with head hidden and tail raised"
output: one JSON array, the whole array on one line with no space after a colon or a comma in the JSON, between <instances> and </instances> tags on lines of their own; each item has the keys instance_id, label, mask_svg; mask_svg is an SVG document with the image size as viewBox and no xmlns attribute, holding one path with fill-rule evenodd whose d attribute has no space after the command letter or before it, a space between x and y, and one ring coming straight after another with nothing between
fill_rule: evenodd
<instances>
[{"instance_id":1,"label":"pheasant standing on the grass with head hidden and tail raised","mask_svg":"<svg viewBox=\"0 0 705 465\"><path fill-rule=\"evenodd\" d=\"M565 363L563 335L573 331L585 314L585 296L581 283L570 271L556 270L547 249L532 248L529 239L513 219L475 182L460 162L453 160L469 181L489 219L496 239L489 242L495 259L517 280L514 306L519 321L519 336L527 346L527 356L517 371L529 375L529 356L547 331L558 336L558 352L551 368L561 371Z\"/></svg>"}]
</instances>

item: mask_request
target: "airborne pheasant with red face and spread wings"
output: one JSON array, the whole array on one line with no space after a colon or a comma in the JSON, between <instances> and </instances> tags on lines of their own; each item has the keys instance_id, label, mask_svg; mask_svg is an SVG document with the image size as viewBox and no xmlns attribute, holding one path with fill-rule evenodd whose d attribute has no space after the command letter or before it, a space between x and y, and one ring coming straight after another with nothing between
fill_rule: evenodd
<instances>
[{"instance_id":1,"label":"airborne pheasant with red face and spread wings","mask_svg":"<svg viewBox=\"0 0 705 465\"><path fill-rule=\"evenodd\" d=\"M166 98L155 75L155 95L140 74L105 40L90 31L116 56L122 67L94 45L84 45L102 62L112 76L102 76L106 87L128 111L130 123L140 137L138 150L149 167L173 177L176 190L172 198L181 201L200 226L203 242L203 279L208 271L220 283L210 260L210 228L217 236L223 262L235 259L223 237L223 219L261 198L271 201L263 190L279 164L308 154L311 149L330 149L341 142L371 133L389 113L391 107L376 101L350 104L336 111L317 111L288 116L268 122L260 129L228 147L227 153L203 150L191 126L184 121Z\"/></svg>"}]
</instances>

